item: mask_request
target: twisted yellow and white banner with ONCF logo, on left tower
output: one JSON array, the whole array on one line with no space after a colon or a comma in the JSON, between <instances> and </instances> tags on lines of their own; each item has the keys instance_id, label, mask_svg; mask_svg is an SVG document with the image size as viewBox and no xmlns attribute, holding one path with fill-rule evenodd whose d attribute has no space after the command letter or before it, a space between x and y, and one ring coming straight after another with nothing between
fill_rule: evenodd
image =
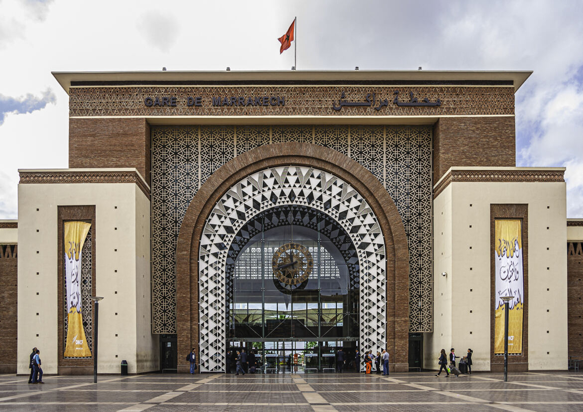
<instances>
[{"instance_id":1,"label":"twisted yellow and white banner with ONCF logo, on left tower","mask_svg":"<svg viewBox=\"0 0 583 412\"><path fill-rule=\"evenodd\" d=\"M91 356L85 338L81 313L81 250L91 224L65 222L65 282L67 289L68 329L65 357L83 358Z\"/></svg>"}]
</instances>

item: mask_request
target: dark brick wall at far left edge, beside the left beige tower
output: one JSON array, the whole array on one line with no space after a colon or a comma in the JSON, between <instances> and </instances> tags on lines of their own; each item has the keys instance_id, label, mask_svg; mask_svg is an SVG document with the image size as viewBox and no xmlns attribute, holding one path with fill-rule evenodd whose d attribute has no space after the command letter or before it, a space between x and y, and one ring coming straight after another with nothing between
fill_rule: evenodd
<instances>
[{"instance_id":1,"label":"dark brick wall at far left edge, beside the left beige tower","mask_svg":"<svg viewBox=\"0 0 583 412\"><path fill-rule=\"evenodd\" d=\"M0 245L0 373L16 373L17 245Z\"/></svg>"}]
</instances>

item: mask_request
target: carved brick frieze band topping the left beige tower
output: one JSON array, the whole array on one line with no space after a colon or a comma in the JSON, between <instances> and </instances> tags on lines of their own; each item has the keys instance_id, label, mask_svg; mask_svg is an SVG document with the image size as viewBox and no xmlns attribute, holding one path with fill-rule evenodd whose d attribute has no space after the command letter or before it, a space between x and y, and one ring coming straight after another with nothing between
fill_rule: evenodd
<instances>
[{"instance_id":1,"label":"carved brick frieze band topping the left beige tower","mask_svg":"<svg viewBox=\"0 0 583 412\"><path fill-rule=\"evenodd\" d=\"M150 198L150 189L139 174L132 170L20 172L20 183L135 183Z\"/></svg>"}]
</instances>

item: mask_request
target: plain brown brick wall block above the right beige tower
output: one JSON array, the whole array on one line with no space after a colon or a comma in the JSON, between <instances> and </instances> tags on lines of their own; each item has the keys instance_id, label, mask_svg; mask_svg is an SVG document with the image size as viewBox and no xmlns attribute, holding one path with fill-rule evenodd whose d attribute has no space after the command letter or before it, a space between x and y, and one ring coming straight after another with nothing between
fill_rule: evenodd
<instances>
[{"instance_id":1,"label":"plain brown brick wall block above the right beige tower","mask_svg":"<svg viewBox=\"0 0 583 412\"><path fill-rule=\"evenodd\" d=\"M433 128L433 183L451 166L516 166L514 117L441 117Z\"/></svg>"}]
</instances>

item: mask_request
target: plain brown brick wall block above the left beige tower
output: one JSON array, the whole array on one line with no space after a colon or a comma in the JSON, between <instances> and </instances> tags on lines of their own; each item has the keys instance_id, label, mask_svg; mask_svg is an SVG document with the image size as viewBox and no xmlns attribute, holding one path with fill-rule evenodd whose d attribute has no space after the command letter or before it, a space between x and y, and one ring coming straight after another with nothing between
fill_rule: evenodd
<instances>
[{"instance_id":1,"label":"plain brown brick wall block above the left beige tower","mask_svg":"<svg viewBox=\"0 0 583 412\"><path fill-rule=\"evenodd\" d=\"M150 185L150 146L143 118L69 118L69 167L135 167Z\"/></svg>"}]
</instances>

